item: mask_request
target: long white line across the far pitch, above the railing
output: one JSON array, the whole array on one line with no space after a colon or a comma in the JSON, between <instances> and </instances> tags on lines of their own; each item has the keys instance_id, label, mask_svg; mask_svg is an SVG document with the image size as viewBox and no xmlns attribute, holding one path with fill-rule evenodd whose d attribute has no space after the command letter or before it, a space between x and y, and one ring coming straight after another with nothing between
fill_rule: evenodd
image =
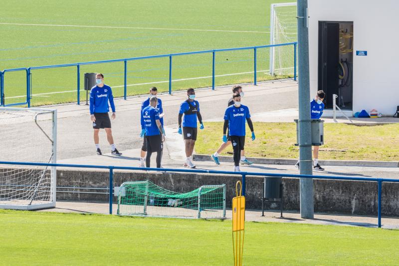
<instances>
[{"instance_id":1,"label":"long white line across the far pitch, above the railing","mask_svg":"<svg viewBox=\"0 0 399 266\"><path fill-rule=\"evenodd\" d=\"M59 24L26 24L26 23L4 23L4 22L0 22L0 24L2 24L2 25L22 25L22 26L50 26L50 27L127 28L127 29L158 29L158 30L161 29L161 30L186 30L186 31L270 33L270 31L223 30L223 29L153 28L153 27L90 26L90 25L59 25Z\"/></svg>"}]
</instances>

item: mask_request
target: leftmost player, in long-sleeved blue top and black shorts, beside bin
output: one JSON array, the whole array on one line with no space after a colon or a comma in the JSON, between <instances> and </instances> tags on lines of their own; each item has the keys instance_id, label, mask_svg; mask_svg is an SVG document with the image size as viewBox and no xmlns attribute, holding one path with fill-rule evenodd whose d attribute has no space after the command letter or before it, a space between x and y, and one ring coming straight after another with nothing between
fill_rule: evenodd
<instances>
[{"instance_id":1,"label":"leftmost player, in long-sleeved blue top and black shorts, beside bin","mask_svg":"<svg viewBox=\"0 0 399 266\"><path fill-rule=\"evenodd\" d=\"M112 95L112 89L110 86L104 84L104 75L101 73L96 74L96 83L90 91L90 119L93 122L94 129L94 144L96 145L97 154L101 155L99 132L100 128L104 128L107 133L107 140L111 145L111 154L122 155L114 144L114 138L112 137L111 120L109 119L109 104L112 109L112 119L115 119L115 104L114 96Z\"/></svg>"}]
</instances>

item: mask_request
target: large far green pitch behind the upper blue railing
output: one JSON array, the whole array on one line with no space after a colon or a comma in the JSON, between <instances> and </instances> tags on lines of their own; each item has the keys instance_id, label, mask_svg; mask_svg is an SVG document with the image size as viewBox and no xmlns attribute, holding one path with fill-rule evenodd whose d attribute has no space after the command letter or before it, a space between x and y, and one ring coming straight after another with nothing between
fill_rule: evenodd
<instances>
[{"instance_id":1,"label":"large far green pitch behind the upper blue railing","mask_svg":"<svg viewBox=\"0 0 399 266\"><path fill-rule=\"evenodd\" d=\"M7 0L1 6L0 69L265 45L270 4L285 1ZM293 52L292 46L278 49ZM269 69L269 50L258 50L257 61L258 70ZM215 62L216 75L250 72L253 51L217 53ZM211 54L179 56L173 65L173 80L196 78L173 82L175 90L211 84ZM103 72L114 95L122 96L123 70L123 62L81 66L81 89L83 73ZM266 73L259 72L258 80L275 78ZM127 75L129 95L152 85L166 91L169 58L129 62ZM248 81L252 73L215 80L216 85ZM137 85L142 83L150 84ZM18 96L26 94L25 84L24 71L5 73L7 104L24 101ZM32 70L33 105L76 101L76 87L76 67Z\"/></svg>"}]
</instances>

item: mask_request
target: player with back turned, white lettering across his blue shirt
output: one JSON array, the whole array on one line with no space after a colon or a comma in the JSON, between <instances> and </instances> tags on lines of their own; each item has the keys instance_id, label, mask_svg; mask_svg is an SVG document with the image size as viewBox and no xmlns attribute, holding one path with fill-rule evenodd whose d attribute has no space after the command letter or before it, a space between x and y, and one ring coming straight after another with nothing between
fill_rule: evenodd
<instances>
[{"instance_id":1,"label":"player with back turned, white lettering across his blue shirt","mask_svg":"<svg viewBox=\"0 0 399 266\"><path fill-rule=\"evenodd\" d=\"M157 105L157 97L152 96L150 98L150 105L143 109L142 120L144 122L147 139L146 167L150 167L151 154L157 152L157 168L161 168L165 135L163 134Z\"/></svg>"}]
</instances>

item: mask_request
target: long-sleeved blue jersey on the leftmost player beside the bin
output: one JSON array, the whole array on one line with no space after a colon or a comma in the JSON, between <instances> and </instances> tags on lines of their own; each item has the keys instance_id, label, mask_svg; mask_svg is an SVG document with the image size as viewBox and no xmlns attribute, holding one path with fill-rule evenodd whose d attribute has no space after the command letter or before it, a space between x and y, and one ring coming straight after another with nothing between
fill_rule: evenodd
<instances>
[{"instance_id":1,"label":"long-sleeved blue jersey on the leftmost player beside the bin","mask_svg":"<svg viewBox=\"0 0 399 266\"><path fill-rule=\"evenodd\" d=\"M90 91L90 114L94 113L108 113L109 104L112 112L115 112L114 96L112 96L111 87L108 85L99 87L94 86Z\"/></svg>"}]
</instances>

